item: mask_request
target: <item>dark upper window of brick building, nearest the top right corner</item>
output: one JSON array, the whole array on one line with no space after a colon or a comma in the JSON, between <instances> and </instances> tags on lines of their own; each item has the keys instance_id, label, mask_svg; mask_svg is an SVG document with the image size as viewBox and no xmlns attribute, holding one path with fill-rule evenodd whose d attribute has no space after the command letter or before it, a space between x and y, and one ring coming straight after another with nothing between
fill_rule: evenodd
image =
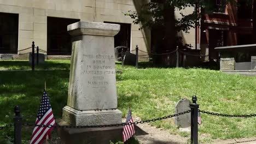
<instances>
[{"instance_id":1,"label":"dark upper window of brick building, nearest the top right corner","mask_svg":"<svg viewBox=\"0 0 256 144\"><path fill-rule=\"evenodd\" d=\"M240 0L237 5L238 19L252 19L252 2L248 0Z\"/></svg>"}]
</instances>

